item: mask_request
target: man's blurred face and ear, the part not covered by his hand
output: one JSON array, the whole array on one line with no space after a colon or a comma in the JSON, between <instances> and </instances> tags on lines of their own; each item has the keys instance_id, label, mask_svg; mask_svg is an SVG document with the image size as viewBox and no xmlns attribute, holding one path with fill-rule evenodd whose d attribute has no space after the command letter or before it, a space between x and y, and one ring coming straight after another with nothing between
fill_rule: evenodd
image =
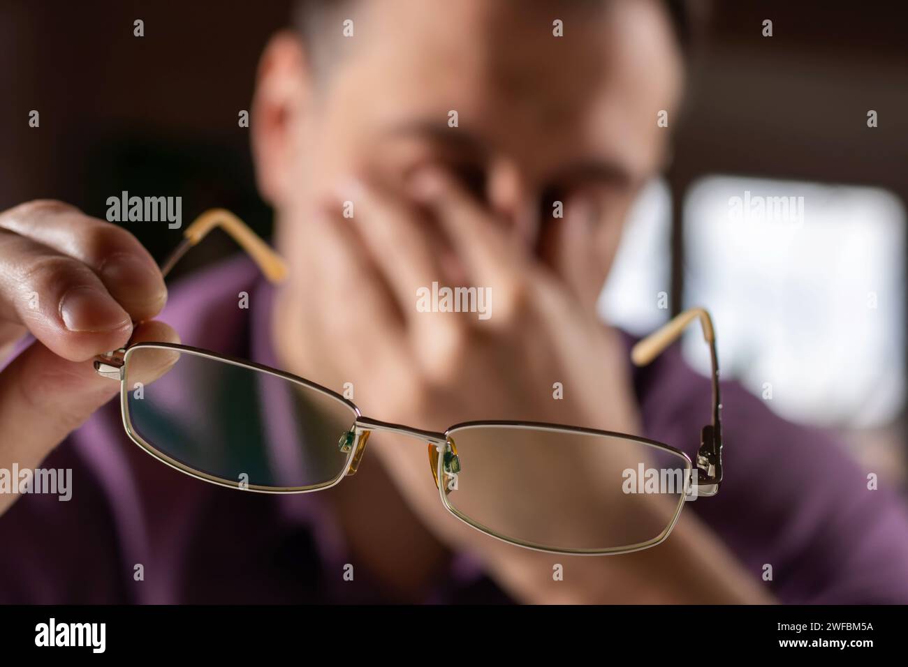
<instances>
[{"instance_id":1,"label":"man's blurred face and ear, the part not covered by his hand","mask_svg":"<svg viewBox=\"0 0 908 667\"><path fill-rule=\"evenodd\" d=\"M299 256L312 202L350 176L402 188L435 165L558 273L570 262L556 202L582 201L595 268L570 281L595 300L627 208L664 161L657 113L680 91L659 3L360 0L324 31L299 53L272 48L262 67L257 162L282 252Z\"/></svg>"}]
</instances>

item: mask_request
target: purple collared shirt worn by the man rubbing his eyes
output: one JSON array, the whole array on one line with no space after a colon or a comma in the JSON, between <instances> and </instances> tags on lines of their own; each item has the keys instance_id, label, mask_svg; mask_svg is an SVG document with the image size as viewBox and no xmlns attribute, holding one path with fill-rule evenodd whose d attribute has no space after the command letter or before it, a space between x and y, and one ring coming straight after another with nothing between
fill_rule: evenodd
<instances>
[{"instance_id":1,"label":"purple collared shirt worn by the man rubbing his eyes","mask_svg":"<svg viewBox=\"0 0 908 667\"><path fill-rule=\"evenodd\" d=\"M248 310L237 308L240 291L250 294ZM280 368L270 312L271 286L242 258L172 289L161 319L183 343ZM633 377L645 435L694 456L708 379L676 347ZM868 490L871 471L831 438L776 417L733 383L723 392L725 481L719 495L685 511L755 580L771 564L765 585L783 602L908 603L903 499ZM25 495L0 516L0 603L383 601L360 571L356 584L342 580L345 538L318 493L249 494L183 475L129 440L118 401L42 467L73 469L72 500ZM143 581L133 577L136 564ZM507 601L466 554L427 600Z\"/></svg>"}]
</instances>

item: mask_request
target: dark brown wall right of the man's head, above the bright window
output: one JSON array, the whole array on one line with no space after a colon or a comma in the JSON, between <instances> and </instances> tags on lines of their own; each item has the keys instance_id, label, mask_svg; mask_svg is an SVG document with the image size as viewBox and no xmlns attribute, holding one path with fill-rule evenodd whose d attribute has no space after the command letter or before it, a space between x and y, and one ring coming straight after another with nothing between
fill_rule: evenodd
<instances>
[{"instance_id":1,"label":"dark brown wall right of the man's head, above the bright window","mask_svg":"<svg viewBox=\"0 0 908 667\"><path fill-rule=\"evenodd\" d=\"M908 5L713 6L670 175L675 219L706 173L877 185L908 202ZM774 36L760 26L773 21ZM867 112L879 126L867 127ZM680 230L674 288L681 289Z\"/></svg>"}]
</instances>

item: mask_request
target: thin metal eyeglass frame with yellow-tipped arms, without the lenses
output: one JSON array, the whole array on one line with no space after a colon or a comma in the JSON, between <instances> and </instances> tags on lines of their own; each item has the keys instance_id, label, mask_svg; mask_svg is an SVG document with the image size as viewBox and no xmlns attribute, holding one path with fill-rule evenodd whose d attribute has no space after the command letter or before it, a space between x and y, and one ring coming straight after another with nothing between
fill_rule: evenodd
<instances>
[{"instance_id":1,"label":"thin metal eyeglass frame with yellow-tipped arms, without the lenses","mask_svg":"<svg viewBox=\"0 0 908 667\"><path fill-rule=\"evenodd\" d=\"M224 209L212 209L211 211L205 211L186 228L186 230L183 232L184 238L181 241L180 245L178 245L177 248L173 250L173 253L170 255L170 257L168 257L168 259L165 260L162 264L161 272L163 276L166 277L167 274L170 273L170 271L173 269L173 266L176 264L176 262L183 257L186 251L192 248L192 246L196 245L199 241L201 241L208 234L208 232L212 231L212 229L214 229L215 227L221 228L223 231L226 231L232 237L232 239L235 240L242 247L242 249L252 257L252 260L255 261L259 269L262 270L262 273L268 280L271 280L271 282L273 283L278 283L281 282L281 280L284 280L287 270L283 260L281 260L281 257L277 255L274 250L271 250L271 248L248 226L246 226L245 223L243 223L230 211L226 211ZM291 373L286 373L276 368L262 366L261 364L254 363L246 359L232 358L230 356L218 354L210 350L193 348L191 346L182 344L159 342L128 343L124 348L119 348L112 352L96 357L94 360L94 369L96 373L103 376L104 378L119 380L121 383L120 406L123 417L123 427L126 431L127 436L129 436L130 439L133 440L136 445L140 446L145 452L158 459L162 463L168 466L172 466L173 468L196 479L210 482L212 484L217 484L219 486L240 488L243 490L250 490L258 493L299 494L308 493L311 491L320 491L322 489L330 488L331 486L339 484L341 482L341 479L343 479L343 477L345 476L354 475L360 465L360 460L362 458L363 452L365 451L366 442L369 439L370 434L375 431L387 432L400 436L413 437L422 440L425 443L428 443L429 466L435 480L435 486L439 489L439 496L441 498L442 504L450 514L456 516L467 525L470 525L471 527L479 530L481 533L495 537L496 539L507 542L508 544L516 544L521 547L535 551L548 552L551 554L627 554L630 552L639 551L641 549L646 549L651 546L656 546L656 544L661 544L666 540L677 523L678 516L681 514L681 509L685 504L686 498L690 497L692 485L696 485L696 495L694 495L694 497L708 497L716 495L718 493L719 486L722 483L722 427L720 415L722 405L719 399L719 370L718 359L716 356L716 335L709 313L706 311L706 309L702 308L688 309L680 313L674 319L667 322L666 325L661 329L657 329L654 333L637 342L637 344L631 350L631 360L637 366L646 366L647 364L652 362L659 354L661 354L669 345L671 345L671 343L681 335L684 329L686 329L687 325L690 324L694 319L700 320L704 338L706 339L706 343L709 345L710 361L712 365L711 382L713 394L712 421L710 424L707 424L705 427L703 427L701 431L700 446L696 454L696 467L694 467L694 462L691 461L690 457L687 456L685 452L677 449L676 447L668 446L664 443L657 442L656 440L650 440L640 436L631 436L629 434L614 433L611 431L603 431L592 428L571 427L561 424L528 421L472 421L456 424L452 427L449 427L445 432L441 433L436 431L427 431L420 428L413 428L401 424L391 424L389 422L379 421L378 419L363 417L360 413L359 407L356 407L350 400L342 397L340 394L332 391L327 387L321 387L321 385L315 384L314 382L311 382L307 379L299 378L295 375L292 375ZM250 368L252 370L271 374L272 376L275 376L277 378L289 380L301 385L302 387L308 387L315 391L321 392L321 394L325 396L340 401L344 406L349 407L355 415L353 426L349 431L341 435L341 441L339 442L341 451L347 453L348 455L347 461L341 469L340 474L330 482L316 486L282 487L242 485L239 481L233 481L230 479L209 475L200 470L196 470L191 466L186 466L185 464L183 464L183 462L178 461L171 456L167 456L159 449L146 442L142 436L136 433L135 429L133 428L132 421L129 417L129 409L127 404L129 391L126 387L125 378L126 359L130 355L132 350L139 348L173 349L194 356L212 358L242 368ZM656 537L654 537L653 539L643 543L630 544L607 549L559 549L540 544L531 544L504 535L499 535L488 527L479 525L478 523L472 521L468 516L461 514L457 510L457 508L450 505L447 498L447 485L439 483L439 480L443 480L445 475L457 474L459 472L460 462L459 457L457 456L457 446L454 443L453 439L451 439L449 434L453 431L469 427L528 428L536 431L549 431L554 433L609 436L624 438L645 444L647 446L653 446L658 449L670 452L671 454L679 456L685 460L685 493L681 496L681 499L676 506L674 515L672 515L671 521L666 526L666 529L661 534L656 535ZM696 469L696 476L689 474L692 469Z\"/></svg>"}]
</instances>

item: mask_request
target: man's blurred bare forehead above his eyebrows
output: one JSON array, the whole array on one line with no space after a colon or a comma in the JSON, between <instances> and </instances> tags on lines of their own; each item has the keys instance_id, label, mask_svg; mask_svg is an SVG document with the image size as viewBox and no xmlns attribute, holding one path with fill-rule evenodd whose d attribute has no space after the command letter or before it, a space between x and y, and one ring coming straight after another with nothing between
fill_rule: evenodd
<instances>
[{"instance_id":1,"label":"man's blurred bare forehead above his eyebrows","mask_svg":"<svg viewBox=\"0 0 908 667\"><path fill-rule=\"evenodd\" d=\"M653 0L371 0L354 17L337 93L377 124L443 127L456 110L460 127L517 156L609 153L631 171L657 160L656 113L681 72Z\"/></svg>"}]
</instances>

